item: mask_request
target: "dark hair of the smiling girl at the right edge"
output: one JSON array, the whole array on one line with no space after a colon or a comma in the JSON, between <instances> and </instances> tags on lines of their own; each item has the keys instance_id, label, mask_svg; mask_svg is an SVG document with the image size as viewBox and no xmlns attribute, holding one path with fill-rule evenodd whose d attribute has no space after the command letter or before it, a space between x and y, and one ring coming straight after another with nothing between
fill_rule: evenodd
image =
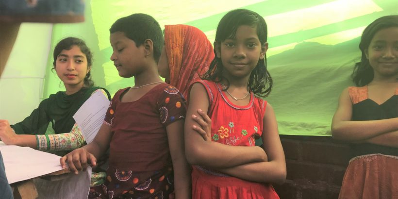
<instances>
[{"instance_id":1,"label":"dark hair of the smiling girl at the right edge","mask_svg":"<svg viewBox=\"0 0 398 199\"><path fill-rule=\"evenodd\" d=\"M374 72L369 60L366 58L366 50L368 50L370 42L377 32L391 27L398 27L398 15L380 17L365 28L359 43L359 49L362 52L361 61L355 63L354 71L351 74L355 85L365 86L372 82Z\"/></svg>"}]
</instances>

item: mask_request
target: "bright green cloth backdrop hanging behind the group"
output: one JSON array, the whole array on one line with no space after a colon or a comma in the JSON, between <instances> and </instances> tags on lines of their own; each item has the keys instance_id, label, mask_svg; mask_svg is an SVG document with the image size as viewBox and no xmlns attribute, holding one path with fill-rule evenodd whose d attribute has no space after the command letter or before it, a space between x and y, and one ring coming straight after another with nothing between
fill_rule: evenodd
<instances>
[{"instance_id":1,"label":"bright green cloth backdrop hanging behind the group","mask_svg":"<svg viewBox=\"0 0 398 199\"><path fill-rule=\"evenodd\" d=\"M268 24L268 69L274 88L267 98L275 109L281 134L330 135L340 92L351 85L350 73L360 56L359 36L374 19L398 14L396 0L91 0L86 21L56 24L52 46L63 37L83 38L94 51L93 77L114 94L133 85L109 60L109 28L120 17L146 13L166 24L188 24L201 29L211 42L220 18L229 10L246 8ZM51 72L49 56L44 94L62 90Z\"/></svg>"}]
</instances>

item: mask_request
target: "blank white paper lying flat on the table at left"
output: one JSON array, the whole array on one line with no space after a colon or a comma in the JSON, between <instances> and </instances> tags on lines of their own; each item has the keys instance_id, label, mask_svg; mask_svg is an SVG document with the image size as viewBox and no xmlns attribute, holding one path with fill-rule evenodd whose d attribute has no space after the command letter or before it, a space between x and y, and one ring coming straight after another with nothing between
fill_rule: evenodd
<instances>
[{"instance_id":1,"label":"blank white paper lying flat on the table at left","mask_svg":"<svg viewBox=\"0 0 398 199\"><path fill-rule=\"evenodd\" d=\"M35 150L30 147L3 145L0 151L3 156L5 175L8 183L24 181L62 170L58 155Z\"/></svg>"}]
</instances>

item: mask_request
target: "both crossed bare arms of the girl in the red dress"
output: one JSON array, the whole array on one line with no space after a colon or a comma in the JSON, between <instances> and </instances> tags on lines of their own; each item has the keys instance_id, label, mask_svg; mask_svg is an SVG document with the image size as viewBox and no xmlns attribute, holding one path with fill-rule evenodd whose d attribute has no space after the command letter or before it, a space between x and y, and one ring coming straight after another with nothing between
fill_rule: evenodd
<instances>
[{"instance_id":1,"label":"both crossed bare arms of the girl in the red dress","mask_svg":"<svg viewBox=\"0 0 398 199\"><path fill-rule=\"evenodd\" d=\"M205 88L201 84L194 84L185 121L185 155L188 162L244 180L283 183L286 164L272 107L267 105L263 119L264 149L257 146L228 146L211 141L211 120L205 114L209 102L199 100L203 96L207 96Z\"/></svg>"}]
</instances>

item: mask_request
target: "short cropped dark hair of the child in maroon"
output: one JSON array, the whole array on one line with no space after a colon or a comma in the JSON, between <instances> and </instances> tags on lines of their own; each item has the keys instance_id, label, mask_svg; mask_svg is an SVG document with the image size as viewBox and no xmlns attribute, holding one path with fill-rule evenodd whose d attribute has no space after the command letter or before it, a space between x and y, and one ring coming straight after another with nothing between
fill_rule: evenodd
<instances>
[{"instance_id":1,"label":"short cropped dark hair of the child in maroon","mask_svg":"<svg viewBox=\"0 0 398 199\"><path fill-rule=\"evenodd\" d=\"M109 32L123 32L126 37L135 42L136 47L141 46L146 39L153 42L153 58L156 63L164 44L162 29L159 23L151 16L137 13L127 17L119 18L112 24Z\"/></svg>"}]
</instances>

